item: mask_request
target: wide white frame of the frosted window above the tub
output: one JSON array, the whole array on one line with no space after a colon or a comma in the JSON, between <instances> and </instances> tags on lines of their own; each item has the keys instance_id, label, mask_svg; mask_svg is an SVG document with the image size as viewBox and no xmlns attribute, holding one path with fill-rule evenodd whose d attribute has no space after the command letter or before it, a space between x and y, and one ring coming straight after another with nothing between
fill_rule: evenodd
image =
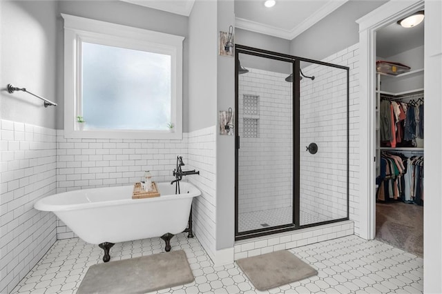
<instances>
[{"instance_id":1,"label":"wide white frame of the frosted window above the tub","mask_svg":"<svg viewBox=\"0 0 442 294\"><path fill-rule=\"evenodd\" d=\"M184 37L61 14L64 18L64 137L85 139L182 139L182 42ZM80 130L81 43L171 56L170 130ZM136 107L136 106L134 106ZM87 121L86 121L87 124Z\"/></svg>"}]
</instances>

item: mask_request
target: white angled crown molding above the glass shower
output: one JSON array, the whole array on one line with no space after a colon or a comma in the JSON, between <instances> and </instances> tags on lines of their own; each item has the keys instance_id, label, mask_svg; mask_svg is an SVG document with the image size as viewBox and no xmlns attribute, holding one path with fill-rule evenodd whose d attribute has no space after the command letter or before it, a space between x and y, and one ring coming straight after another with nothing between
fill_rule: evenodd
<instances>
[{"instance_id":1,"label":"white angled crown molding above the glass shower","mask_svg":"<svg viewBox=\"0 0 442 294\"><path fill-rule=\"evenodd\" d=\"M282 39L292 40L298 37L302 32L308 30L315 23L327 17L328 14L334 12L334 10L343 6L349 0L329 0L323 7L319 8L311 14L305 21L302 21L298 26L292 28L291 30L284 30L282 28L276 28L274 26L268 26L256 21L249 21L247 19L240 19L236 17L235 26L236 28L242 28L243 30L250 30L252 32L260 32L261 34L271 35L274 37L279 37Z\"/></svg>"}]
</instances>

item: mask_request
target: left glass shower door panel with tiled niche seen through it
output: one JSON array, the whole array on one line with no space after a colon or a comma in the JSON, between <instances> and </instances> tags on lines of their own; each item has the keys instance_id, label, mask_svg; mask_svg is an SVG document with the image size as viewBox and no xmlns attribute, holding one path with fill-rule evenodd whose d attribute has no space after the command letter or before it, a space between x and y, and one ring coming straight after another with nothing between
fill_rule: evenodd
<instances>
[{"instance_id":1,"label":"left glass shower door panel with tiled niche seen through it","mask_svg":"<svg viewBox=\"0 0 442 294\"><path fill-rule=\"evenodd\" d=\"M293 61L238 59L236 233L294 227L294 91L285 81Z\"/></svg>"}]
</instances>

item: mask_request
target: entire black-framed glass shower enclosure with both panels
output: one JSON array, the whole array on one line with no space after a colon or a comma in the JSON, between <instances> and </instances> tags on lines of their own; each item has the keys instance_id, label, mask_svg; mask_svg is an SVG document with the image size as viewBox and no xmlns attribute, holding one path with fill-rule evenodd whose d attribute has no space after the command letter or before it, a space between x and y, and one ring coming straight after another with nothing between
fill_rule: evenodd
<instances>
[{"instance_id":1,"label":"entire black-framed glass shower enclosure with both panels","mask_svg":"<svg viewBox=\"0 0 442 294\"><path fill-rule=\"evenodd\" d=\"M235 57L236 239L349 219L349 68L241 45Z\"/></svg>"}]
</instances>

